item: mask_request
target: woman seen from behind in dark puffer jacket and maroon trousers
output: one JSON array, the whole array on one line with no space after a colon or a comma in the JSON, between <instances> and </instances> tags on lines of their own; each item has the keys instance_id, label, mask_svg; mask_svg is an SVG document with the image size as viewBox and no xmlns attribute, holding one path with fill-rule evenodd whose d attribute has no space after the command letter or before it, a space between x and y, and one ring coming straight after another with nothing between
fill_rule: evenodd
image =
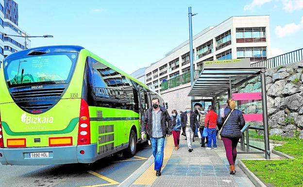
<instances>
[{"instance_id":1,"label":"woman seen from behind in dark puffer jacket and maroon trousers","mask_svg":"<svg viewBox=\"0 0 303 187\"><path fill-rule=\"evenodd\" d=\"M235 162L236 162L236 146L241 134L241 129L245 125L245 120L243 114L240 110L235 109L236 102L234 99L227 100L227 106L224 109L224 117L221 118L220 115L217 119L217 124L223 125L224 121L227 119L228 115L230 117L227 119L225 124L222 126L221 137L226 151L226 157L230 165L230 174L235 174Z\"/></svg>"}]
</instances>

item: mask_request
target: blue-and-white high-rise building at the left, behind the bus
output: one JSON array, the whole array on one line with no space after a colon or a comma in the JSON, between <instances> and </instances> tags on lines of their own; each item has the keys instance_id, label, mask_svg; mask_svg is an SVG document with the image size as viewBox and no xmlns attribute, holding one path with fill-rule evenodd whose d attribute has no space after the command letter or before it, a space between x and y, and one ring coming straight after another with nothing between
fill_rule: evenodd
<instances>
[{"instance_id":1,"label":"blue-and-white high-rise building at the left, behind the bus","mask_svg":"<svg viewBox=\"0 0 303 187\"><path fill-rule=\"evenodd\" d=\"M27 35L18 26L18 4L13 0L0 0L0 32L8 35ZM4 36L0 34L0 61L16 51L31 47L31 41L24 37Z\"/></svg>"}]
</instances>

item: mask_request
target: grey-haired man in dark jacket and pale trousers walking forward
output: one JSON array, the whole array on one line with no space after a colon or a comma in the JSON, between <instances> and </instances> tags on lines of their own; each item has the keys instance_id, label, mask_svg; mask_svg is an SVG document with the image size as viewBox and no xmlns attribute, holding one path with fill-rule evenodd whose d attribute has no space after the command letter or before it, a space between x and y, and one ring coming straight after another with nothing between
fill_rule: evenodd
<instances>
[{"instance_id":1,"label":"grey-haired man in dark jacket and pale trousers walking forward","mask_svg":"<svg viewBox=\"0 0 303 187\"><path fill-rule=\"evenodd\" d=\"M187 105L185 107L186 112L183 113L182 118L181 118L181 124L182 127L185 127L185 134L186 134L186 139L187 139L187 147L188 147L188 152L192 152L193 149L191 147L192 140L194 137L194 132L196 126L199 125L199 121L197 120L197 115L190 110L190 106Z\"/></svg>"}]
</instances>

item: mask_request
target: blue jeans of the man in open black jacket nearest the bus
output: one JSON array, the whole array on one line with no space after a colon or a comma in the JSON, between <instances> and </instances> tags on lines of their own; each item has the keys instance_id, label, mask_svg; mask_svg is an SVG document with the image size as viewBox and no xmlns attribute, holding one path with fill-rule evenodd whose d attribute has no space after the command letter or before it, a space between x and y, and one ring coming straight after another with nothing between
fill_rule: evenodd
<instances>
[{"instance_id":1,"label":"blue jeans of the man in open black jacket nearest the bus","mask_svg":"<svg viewBox=\"0 0 303 187\"><path fill-rule=\"evenodd\" d=\"M162 164L163 164L163 152L164 152L164 140L165 137L152 137L152 155L155 158L154 163L155 167L154 170L161 171Z\"/></svg>"}]
</instances>

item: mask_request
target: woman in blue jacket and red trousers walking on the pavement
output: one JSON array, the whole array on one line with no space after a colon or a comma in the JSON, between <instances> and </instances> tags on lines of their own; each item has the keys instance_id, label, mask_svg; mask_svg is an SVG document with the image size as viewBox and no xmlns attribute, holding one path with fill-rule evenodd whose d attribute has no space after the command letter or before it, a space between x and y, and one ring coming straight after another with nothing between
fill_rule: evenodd
<instances>
[{"instance_id":1,"label":"woman in blue jacket and red trousers walking on the pavement","mask_svg":"<svg viewBox=\"0 0 303 187\"><path fill-rule=\"evenodd\" d=\"M171 111L171 126L172 126L172 136L174 138L175 150L179 149L180 142L180 132L181 132L181 117L178 115L176 110Z\"/></svg>"}]
</instances>

